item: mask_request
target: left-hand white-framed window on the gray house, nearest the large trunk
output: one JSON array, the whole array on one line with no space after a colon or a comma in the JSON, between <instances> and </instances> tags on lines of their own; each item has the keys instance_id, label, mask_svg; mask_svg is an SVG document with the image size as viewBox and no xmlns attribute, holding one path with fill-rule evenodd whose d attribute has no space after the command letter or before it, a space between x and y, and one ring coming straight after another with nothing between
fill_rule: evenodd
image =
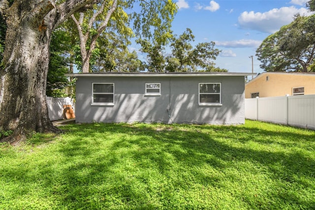
<instances>
[{"instance_id":1,"label":"left-hand white-framed window on the gray house, nearest the large trunk","mask_svg":"<svg viewBox=\"0 0 315 210\"><path fill-rule=\"evenodd\" d=\"M114 105L114 83L92 83L92 105Z\"/></svg>"}]
</instances>

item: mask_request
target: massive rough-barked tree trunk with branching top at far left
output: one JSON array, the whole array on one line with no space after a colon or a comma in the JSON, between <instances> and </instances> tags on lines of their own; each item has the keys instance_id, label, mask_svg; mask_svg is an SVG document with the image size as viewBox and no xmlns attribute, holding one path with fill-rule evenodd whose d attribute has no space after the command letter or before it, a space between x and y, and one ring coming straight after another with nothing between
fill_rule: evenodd
<instances>
[{"instance_id":1,"label":"massive rough-barked tree trunk with branching top at far left","mask_svg":"<svg viewBox=\"0 0 315 210\"><path fill-rule=\"evenodd\" d=\"M8 8L0 0L6 17L6 47L0 70L0 131L13 135L0 141L24 140L32 132L58 132L48 116L46 80L53 29L73 12L90 8L97 0L15 0Z\"/></svg>"}]
</instances>

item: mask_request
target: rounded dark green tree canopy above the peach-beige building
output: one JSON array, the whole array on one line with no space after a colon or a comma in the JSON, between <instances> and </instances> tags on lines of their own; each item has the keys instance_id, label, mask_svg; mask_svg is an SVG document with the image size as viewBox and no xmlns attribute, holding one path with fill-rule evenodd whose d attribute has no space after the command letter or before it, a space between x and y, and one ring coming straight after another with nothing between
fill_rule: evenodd
<instances>
[{"instance_id":1,"label":"rounded dark green tree canopy above the peach-beige building","mask_svg":"<svg viewBox=\"0 0 315 210\"><path fill-rule=\"evenodd\" d=\"M265 71L314 71L315 15L294 21L269 35L256 50Z\"/></svg>"}]
</instances>

